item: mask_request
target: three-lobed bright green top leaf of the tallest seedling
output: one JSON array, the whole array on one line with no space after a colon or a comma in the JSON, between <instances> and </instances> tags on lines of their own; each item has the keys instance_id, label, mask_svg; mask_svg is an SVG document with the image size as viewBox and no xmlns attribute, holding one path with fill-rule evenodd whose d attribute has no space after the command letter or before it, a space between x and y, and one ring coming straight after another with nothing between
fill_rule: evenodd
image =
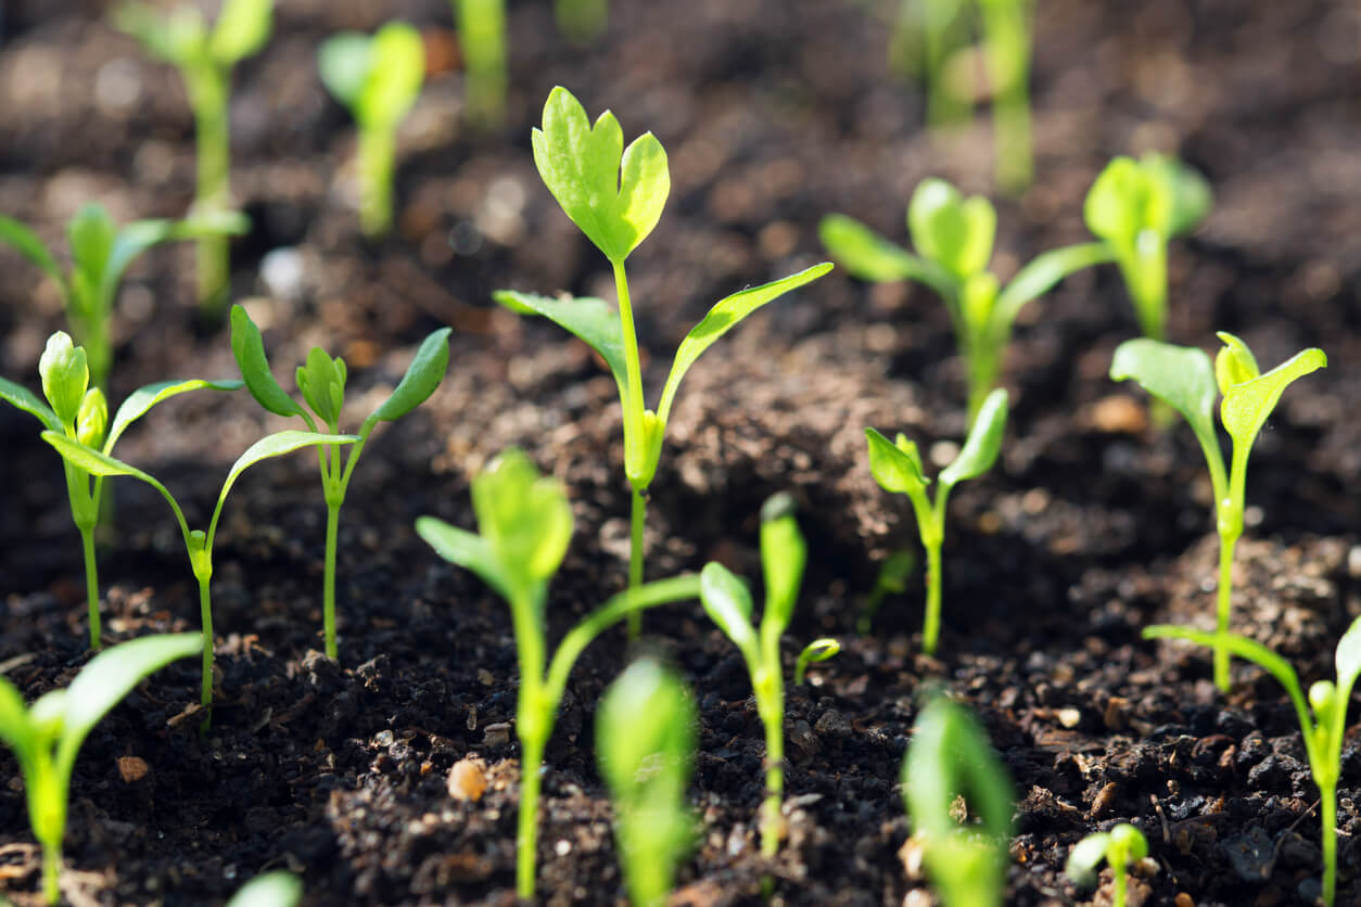
<instances>
[{"instance_id":1,"label":"three-lobed bright green top leaf of the tallest seedling","mask_svg":"<svg viewBox=\"0 0 1361 907\"><path fill-rule=\"evenodd\" d=\"M532 135L534 162L562 211L611 262L646 239L671 192L667 152L651 132L623 148L608 110L595 126L570 91L557 87Z\"/></svg>"}]
</instances>

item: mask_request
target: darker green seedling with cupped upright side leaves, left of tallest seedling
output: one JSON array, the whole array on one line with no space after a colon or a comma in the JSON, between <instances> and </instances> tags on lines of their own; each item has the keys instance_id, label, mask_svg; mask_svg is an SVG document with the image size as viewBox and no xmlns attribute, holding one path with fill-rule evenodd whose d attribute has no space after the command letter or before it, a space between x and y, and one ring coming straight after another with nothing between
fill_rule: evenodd
<instances>
[{"instance_id":1,"label":"darker green seedling with cupped upright side leaves, left of tallest seedling","mask_svg":"<svg viewBox=\"0 0 1361 907\"><path fill-rule=\"evenodd\" d=\"M340 412L344 408L344 382L348 370L344 360L332 359L320 347L313 347L308 362L298 366L298 390L316 419L293 397L284 393L269 371L264 352L264 339L250 315L241 306L231 307L231 352L237 358L246 390L261 407L276 416L298 416L308 423L308 431L318 432L317 420L331 435L340 434ZM340 507L344 504L350 476L354 475L359 454L380 422L395 422L407 415L436 392L449 367L449 328L440 328L421 341L415 358L407 366L392 394L359 424L359 432L342 457L340 446L328 443L317 449L321 469L321 492L327 500L327 555L323 572L321 619L325 631L327 658L336 658L336 540L340 532Z\"/></svg>"}]
</instances>

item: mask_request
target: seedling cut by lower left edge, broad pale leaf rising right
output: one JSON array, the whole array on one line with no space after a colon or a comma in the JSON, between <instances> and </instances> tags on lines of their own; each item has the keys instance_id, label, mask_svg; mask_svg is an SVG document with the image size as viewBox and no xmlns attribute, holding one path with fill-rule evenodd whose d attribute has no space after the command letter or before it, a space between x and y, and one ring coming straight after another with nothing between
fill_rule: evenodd
<instances>
[{"instance_id":1,"label":"seedling cut by lower left edge, broad pale leaf rising right","mask_svg":"<svg viewBox=\"0 0 1361 907\"><path fill-rule=\"evenodd\" d=\"M65 689L31 707L0 677L0 740L14 751L29 800L29 824L42 846L42 893L61 900L61 839L67 831L71 770L80 744L143 679L199 651L199 634L143 636L99 653Z\"/></svg>"}]
</instances>

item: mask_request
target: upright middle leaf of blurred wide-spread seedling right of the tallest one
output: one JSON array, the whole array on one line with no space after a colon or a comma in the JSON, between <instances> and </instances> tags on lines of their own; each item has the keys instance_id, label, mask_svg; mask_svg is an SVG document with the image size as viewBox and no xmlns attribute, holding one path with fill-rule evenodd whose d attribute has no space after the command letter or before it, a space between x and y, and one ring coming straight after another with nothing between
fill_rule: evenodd
<instances>
[{"instance_id":1,"label":"upright middle leaf of blurred wide-spread seedling right of the tallest one","mask_svg":"<svg viewBox=\"0 0 1361 907\"><path fill-rule=\"evenodd\" d=\"M908 203L908 231L917 254L958 280L988 267L996 230L998 215L987 199L965 199L945 179L923 179Z\"/></svg>"}]
</instances>

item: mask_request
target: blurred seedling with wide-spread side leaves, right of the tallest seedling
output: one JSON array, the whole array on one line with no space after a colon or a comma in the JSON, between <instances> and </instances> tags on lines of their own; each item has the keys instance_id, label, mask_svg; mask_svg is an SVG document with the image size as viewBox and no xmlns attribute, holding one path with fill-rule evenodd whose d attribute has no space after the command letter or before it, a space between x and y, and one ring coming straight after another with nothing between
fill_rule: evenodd
<instances>
[{"instance_id":1,"label":"blurred seedling with wide-spread side leaves, right of the tallest seedling","mask_svg":"<svg viewBox=\"0 0 1361 907\"><path fill-rule=\"evenodd\" d=\"M998 216L983 196L965 199L945 179L924 179L908 205L917 254L845 215L822 219L818 233L853 276L876 283L915 280L945 301L969 386L969 420L998 382L1021 307L1064 277L1111 260L1104 243L1052 249L1021 268L1004 288L987 269Z\"/></svg>"}]
</instances>

